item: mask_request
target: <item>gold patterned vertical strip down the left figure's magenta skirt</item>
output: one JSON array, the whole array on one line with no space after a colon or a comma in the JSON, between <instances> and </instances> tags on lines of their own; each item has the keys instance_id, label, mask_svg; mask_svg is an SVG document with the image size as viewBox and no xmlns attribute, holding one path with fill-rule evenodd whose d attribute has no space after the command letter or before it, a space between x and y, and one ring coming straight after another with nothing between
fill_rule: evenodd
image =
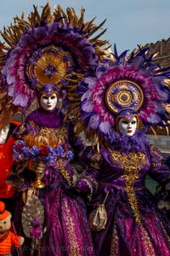
<instances>
[{"instance_id":1,"label":"gold patterned vertical strip down the left figure's magenta skirt","mask_svg":"<svg viewBox=\"0 0 170 256\"><path fill-rule=\"evenodd\" d=\"M69 242L70 242L70 247L68 248L69 251L67 253L69 256L81 256L81 253L79 253L79 246L77 244L77 237L74 234L75 228L71 218L71 212L66 201L65 201L65 213L66 213L66 227L68 230L68 236L69 236Z\"/></svg>"}]
</instances>

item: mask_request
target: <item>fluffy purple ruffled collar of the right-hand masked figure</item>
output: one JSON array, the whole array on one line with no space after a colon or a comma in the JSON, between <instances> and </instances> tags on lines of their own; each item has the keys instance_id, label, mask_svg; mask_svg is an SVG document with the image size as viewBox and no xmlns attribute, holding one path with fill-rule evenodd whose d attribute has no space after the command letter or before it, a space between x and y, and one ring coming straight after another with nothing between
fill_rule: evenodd
<instances>
[{"instance_id":1,"label":"fluffy purple ruffled collar of the right-hand masked figure","mask_svg":"<svg viewBox=\"0 0 170 256\"><path fill-rule=\"evenodd\" d=\"M119 150L122 154L128 154L132 151L145 152L146 145L150 144L143 131L136 131L132 137L113 132L110 134L108 142L112 149Z\"/></svg>"}]
</instances>

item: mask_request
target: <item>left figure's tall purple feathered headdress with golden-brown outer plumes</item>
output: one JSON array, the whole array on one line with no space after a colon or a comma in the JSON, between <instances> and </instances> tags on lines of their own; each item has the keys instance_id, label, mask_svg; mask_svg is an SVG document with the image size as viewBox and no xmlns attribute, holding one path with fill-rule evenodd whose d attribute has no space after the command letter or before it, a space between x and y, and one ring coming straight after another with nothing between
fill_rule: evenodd
<instances>
[{"instance_id":1,"label":"left figure's tall purple feathered headdress with golden-brown outer plumes","mask_svg":"<svg viewBox=\"0 0 170 256\"><path fill-rule=\"evenodd\" d=\"M14 18L14 25L4 27L1 35L0 67L4 91L12 98L12 104L24 109L31 105L37 88L54 84L60 89L69 84L72 73L83 73L94 68L96 61L105 55L107 41L100 40L105 32L97 32L105 20L94 25L94 20L84 22L84 9L78 17L75 10L66 13L49 4L37 8L28 15ZM107 46L105 46L107 45Z\"/></svg>"}]
</instances>

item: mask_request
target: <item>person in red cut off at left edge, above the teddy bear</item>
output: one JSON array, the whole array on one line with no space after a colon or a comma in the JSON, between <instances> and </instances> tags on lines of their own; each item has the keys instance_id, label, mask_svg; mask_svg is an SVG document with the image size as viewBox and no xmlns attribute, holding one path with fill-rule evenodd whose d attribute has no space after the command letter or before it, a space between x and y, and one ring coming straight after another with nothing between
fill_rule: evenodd
<instances>
[{"instance_id":1,"label":"person in red cut off at left edge, above the teddy bear","mask_svg":"<svg viewBox=\"0 0 170 256\"><path fill-rule=\"evenodd\" d=\"M20 122L13 120L17 108L9 104L3 91L0 92L0 201L3 201L9 212L14 212L14 187L7 183L7 177L14 163L13 146L14 129Z\"/></svg>"}]
</instances>

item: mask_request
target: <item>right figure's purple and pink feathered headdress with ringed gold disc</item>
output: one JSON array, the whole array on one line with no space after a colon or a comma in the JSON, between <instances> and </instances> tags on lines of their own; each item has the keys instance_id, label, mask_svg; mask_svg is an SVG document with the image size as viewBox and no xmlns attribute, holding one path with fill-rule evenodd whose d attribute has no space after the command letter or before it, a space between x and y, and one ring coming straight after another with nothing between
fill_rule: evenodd
<instances>
[{"instance_id":1,"label":"right figure's purple and pink feathered headdress with ringed gold disc","mask_svg":"<svg viewBox=\"0 0 170 256\"><path fill-rule=\"evenodd\" d=\"M165 125L169 119L166 104L170 102L170 88L165 83L168 69L152 62L147 49L117 55L115 47L114 58L100 61L94 75L87 73L78 84L71 111L79 119L77 131L85 131L88 138L108 135L117 114L125 109L138 113L147 128Z\"/></svg>"}]
</instances>

